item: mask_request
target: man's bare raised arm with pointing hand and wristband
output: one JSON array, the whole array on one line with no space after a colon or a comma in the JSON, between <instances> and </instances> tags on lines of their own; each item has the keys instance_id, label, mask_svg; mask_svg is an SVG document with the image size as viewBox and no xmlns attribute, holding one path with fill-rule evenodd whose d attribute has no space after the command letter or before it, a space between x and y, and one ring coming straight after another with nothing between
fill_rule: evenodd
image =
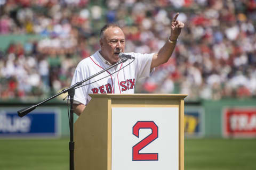
<instances>
[{"instance_id":1,"label":"man's bare raised arm with pointing hand and wristband","mask_svg":"<svg viewBox=\"0 0 256 170\"><path fill-rule=\"evenodd\" d=\"M168 38L166 37L167 39L166 43L159 50L158 53L154 54L151 62L151 69L166 63L171 57L174 51L175 45L177 43L177 39L180 35L181 29L184 27L184 23L177 20L178 16L179 16L179 13L176 13L174 18L172 19L171 35Z\"/></svg>"}]
</instances>

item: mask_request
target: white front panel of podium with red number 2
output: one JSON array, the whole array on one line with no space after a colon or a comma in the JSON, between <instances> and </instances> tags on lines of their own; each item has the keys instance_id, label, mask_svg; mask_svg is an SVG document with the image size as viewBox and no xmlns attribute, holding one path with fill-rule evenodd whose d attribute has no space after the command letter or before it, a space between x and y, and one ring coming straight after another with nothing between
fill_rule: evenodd
<instances>
[{"instance_id":1,"label":"white front panel of podium with red number 2","mask_svg":"<svg viewBox=\"0 0 256 170\"><path fill-rule=\"evenodd\" d=\"M111 170L179 169L178 107L113 107L111 112Z\"/></svg>"}]
</instances>

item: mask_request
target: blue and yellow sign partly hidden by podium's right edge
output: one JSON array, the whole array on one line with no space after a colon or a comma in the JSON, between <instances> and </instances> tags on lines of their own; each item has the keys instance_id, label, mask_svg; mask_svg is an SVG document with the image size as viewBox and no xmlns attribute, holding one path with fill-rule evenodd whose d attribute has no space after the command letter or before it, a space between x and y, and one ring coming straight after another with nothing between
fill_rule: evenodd
<instances>
[{"instance_id":1,"label":"blue and yellow sign partly hidden by podium's right edge","mask_svg":"<svg viewBox=\"0 0 256 170\"><path fill-rule=\"evenodd\" d=\"M187 107L184 115L186 137L202 137L204 133L204 117L201 107Z\"/></svg>"}]
</instances>

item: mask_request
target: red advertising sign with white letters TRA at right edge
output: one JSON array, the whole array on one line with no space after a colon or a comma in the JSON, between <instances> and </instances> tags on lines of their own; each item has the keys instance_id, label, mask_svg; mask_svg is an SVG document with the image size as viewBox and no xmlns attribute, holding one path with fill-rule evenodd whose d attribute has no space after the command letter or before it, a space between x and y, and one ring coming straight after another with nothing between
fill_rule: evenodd
<instances>
[{"instance_id":1,"label":"red advertising sign with white letters TRA at right edge","mask_svg":"<svg viewBox=\"0 0 256 170\"><path fill-rule=\"evenodd\" d=\"M256 108L229 108L223 113L225 137L256 137Z\"/></svg>"}]
</instances>

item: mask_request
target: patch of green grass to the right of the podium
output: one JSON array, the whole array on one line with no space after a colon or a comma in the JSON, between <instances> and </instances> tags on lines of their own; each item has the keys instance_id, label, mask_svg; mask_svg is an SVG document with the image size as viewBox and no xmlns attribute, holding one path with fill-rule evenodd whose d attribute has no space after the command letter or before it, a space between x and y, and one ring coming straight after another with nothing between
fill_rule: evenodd
<instances>
[{"instance_id":1,"label":"patch of green grass to the right of the podium","mask_svg":"<svg viewBox=\"0 0 256 170\"><path fill-rule=\"evenodd\" d=\"M256 139L185 140L185 169L256 169Z\"/></svg>"}]
</instances>

